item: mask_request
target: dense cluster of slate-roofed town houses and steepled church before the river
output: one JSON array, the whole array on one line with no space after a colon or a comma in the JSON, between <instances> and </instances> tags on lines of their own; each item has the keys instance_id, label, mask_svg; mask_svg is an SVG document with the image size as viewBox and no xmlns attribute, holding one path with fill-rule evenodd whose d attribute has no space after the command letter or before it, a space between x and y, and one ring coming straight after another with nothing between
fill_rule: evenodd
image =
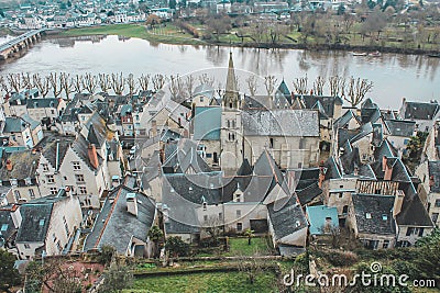
<instances>
[{"instance_id":1,"label":"dense cluster of slate-roofed town houses and steepled church before the river","mask_svg":"<svg viewBox=\"0 0 440 293\"><path fill-rule=\"evenodd\" d=\"M294 94L284 81L272 97L246 95L232 55L221 95L209 84L191 97L12 94L1 244L22 259L105 245L150 257L147 230L157 225L188 243L212 228L250 228L286 256L342 230L371 249L413 246L439 224L438 106L404 100L381 110L366 99L346 108L338 97ZM35 143L24 117L43 133ZM24 121L21 140L11 119ZM429 135L411 172L403 158L420 132Z\"/></svg>"}]
</instances>

